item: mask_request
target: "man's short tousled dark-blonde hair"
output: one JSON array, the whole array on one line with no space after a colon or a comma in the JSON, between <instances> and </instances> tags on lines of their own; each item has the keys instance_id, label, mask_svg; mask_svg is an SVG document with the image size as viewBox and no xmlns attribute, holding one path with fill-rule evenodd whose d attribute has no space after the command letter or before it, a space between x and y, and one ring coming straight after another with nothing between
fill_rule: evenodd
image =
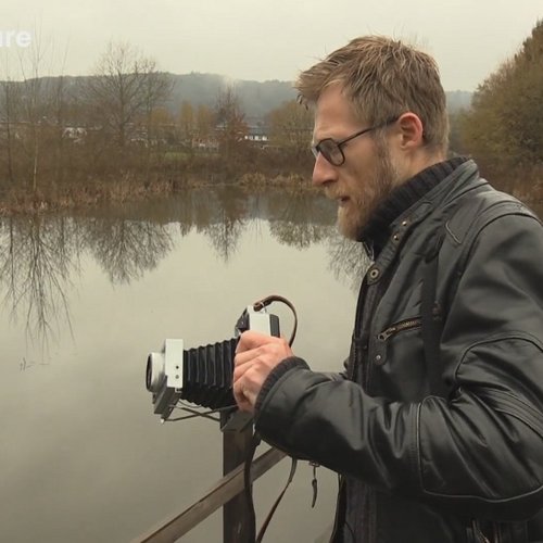
<instances>
[{"instance_id":1,"label":"man's short tousled dark-blonde hair","mask_svg":"<svg viewBox=\"0 0 543 543\"><path fill-rule=\"evenodd\" d=\"M421 121L426 147L446 153L449 116L438 64L429 54L381 36L351 40L302 72L299 99L314 104L340 85L362 122L372 126L411 111Z\"/></svg>"}]
</instances>

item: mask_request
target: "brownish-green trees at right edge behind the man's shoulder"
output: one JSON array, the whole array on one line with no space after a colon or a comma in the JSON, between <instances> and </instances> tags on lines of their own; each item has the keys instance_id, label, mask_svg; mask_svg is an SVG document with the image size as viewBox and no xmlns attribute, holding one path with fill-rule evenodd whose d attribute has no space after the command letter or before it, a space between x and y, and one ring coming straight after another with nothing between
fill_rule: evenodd
<instances>
[{"instance_id":1,"label":"brownish-green trees at right edge behind the man's shoulder","mask_svg":"<svg viewBox=\"0 0 543 543\"><path fill-rule=\"evenodd\" d=\"M455 121L458 151L506 190L543 200L543 20Z\"/></svg>"}]
</instances>

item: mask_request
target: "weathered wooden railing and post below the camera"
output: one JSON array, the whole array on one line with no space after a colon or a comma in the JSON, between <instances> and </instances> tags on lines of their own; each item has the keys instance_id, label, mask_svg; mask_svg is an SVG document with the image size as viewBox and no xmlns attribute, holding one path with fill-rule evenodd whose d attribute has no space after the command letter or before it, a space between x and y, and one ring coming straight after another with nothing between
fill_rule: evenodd
<instances>
[{"instance_id":1,"label":"weathered wooden railing and post below the camera","mask_svg":"<svg viewBox=\"0 0 543 543\"><path fill-rule=\"evenodd\" d=\"M217 481L198 502L179 515L168 518L138 536L132 543L173 543L187 534L210 515L223 507L224 543L251 542L251 515L243 496L243 464L251 450L252 427L223 434L223 472ZM277 449L269 449L251 464L251 483L285 457ZM254 535L253 535L254 536Z\"/></svg>"}]
</instances>

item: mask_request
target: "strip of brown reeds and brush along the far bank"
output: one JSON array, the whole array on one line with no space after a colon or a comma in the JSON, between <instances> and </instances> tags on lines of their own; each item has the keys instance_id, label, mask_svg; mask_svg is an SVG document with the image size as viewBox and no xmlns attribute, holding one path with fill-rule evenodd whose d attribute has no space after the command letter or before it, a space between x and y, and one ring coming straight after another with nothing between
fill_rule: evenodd
<instances>
[{"instance_id":1,"label":"strip of brown reeds and brush along the far bank","mask_svg":"<svg viewBox=\"0 0 543 543\"><path fill-rule=\"evenodd\" d=\"M240 140L229 151L228 155L218 151L173 152L171 149L153 149L148 153L144 147L123 150L112 147L102 152L101 165L94 160L93 167L89 167L83 160L87 150L78 147L71 149L70 155L64 152L64 167L59 169L49 164L50 167L45 168L48 177L36 176L35 182L0 180L0 215L123 204L193 188L315 191L311 185L313 159L306 149L303 153L293 153ZM47 156L54 157L54 153L49 152ZM42 164L47 164L46 159Z\"/></svg>"}]
</instances>

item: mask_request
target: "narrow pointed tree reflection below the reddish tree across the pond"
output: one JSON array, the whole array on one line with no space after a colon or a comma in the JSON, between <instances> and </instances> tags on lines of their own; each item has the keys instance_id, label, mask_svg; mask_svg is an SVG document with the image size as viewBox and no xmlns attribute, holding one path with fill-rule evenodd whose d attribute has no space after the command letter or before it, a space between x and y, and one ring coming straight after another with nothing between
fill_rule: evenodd
<instances>
[{"instance_id":1,"label":"narrow pointed tree reflection below the reddish tree across the pond","mask_svg":"<svg viewBox=\"0 0 543 543\"><path fill-rule=\"evenodd\" d=\"M240 193L223 189L215 193L216 201L210 201L211 220L204 227L213 249L226 263L236 252L238 240L245 229L245 199ZM209 195L207 195L209 199Z\"/></svg>"}]
</instances>

